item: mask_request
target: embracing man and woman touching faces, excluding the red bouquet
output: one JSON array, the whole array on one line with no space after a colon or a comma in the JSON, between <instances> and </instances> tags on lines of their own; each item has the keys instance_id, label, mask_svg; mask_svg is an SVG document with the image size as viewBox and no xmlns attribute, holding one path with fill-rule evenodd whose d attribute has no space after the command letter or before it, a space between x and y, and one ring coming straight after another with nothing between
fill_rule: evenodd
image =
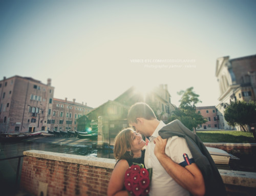
<instances>
[{"instance_id":1,"label":"embracing man and woman touching faces, excluding the red bouquet","mask_svg":"<svg viewBox=\"0 0 256 196\"><path fill-rule=\"evenodd\" d=\"M164 124L146 103L132 105L127 120L133 128L116 136L114 156L118 161L108 195L129 195L124 178L133 163L153 169L149 195L226 195L204 144L179 120Z\"/></svg>"}]
</instances>

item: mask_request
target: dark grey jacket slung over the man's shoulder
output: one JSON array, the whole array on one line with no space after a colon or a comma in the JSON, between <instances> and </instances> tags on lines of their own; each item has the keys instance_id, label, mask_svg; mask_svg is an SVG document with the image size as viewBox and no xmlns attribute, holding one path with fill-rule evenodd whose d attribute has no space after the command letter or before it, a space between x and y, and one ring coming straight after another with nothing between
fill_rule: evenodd
<instances>
[{"instance_id":1,"label":"dark grey jacket slung over the man's shoulder","mask_svg":"<svg viewBox=\"0 0 256 196\"><path fill-rule=\"evenodd\" d=\"M168 123L159 130L158 134L163 139L178 136L186 140L194 161L202 172L205 183L205 195L227 195L219 170L207 148L197 135L191 132L179 120Z\"/></svg>"}]
</instances>

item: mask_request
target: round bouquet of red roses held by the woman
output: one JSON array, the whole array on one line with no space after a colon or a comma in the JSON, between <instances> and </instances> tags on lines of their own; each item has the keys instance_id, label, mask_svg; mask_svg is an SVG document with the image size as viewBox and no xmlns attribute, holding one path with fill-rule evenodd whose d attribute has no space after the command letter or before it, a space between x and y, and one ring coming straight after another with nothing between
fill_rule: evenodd
<instances>
[{"instance_id":1,"label":"round bouquet of red roses held by the woman","mask_svg":"<svg viewBox=\"0 0 256 196\"><path fill-rule=\"evenodd\" d=\"M129 195L145 196L150 192L152 168L145 169L143 164L134 163L124 176L124 186Z\"/></svg>"}]
</instances>

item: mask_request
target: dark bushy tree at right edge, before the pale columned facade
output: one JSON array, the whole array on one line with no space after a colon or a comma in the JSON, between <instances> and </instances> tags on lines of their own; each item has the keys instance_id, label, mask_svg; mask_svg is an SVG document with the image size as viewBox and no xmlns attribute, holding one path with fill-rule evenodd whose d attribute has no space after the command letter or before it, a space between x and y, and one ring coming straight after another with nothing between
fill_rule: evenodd
<instances>
[{"instance_id":1,"label":"dark bushy tree at right edge, before the pale columned facade","mask_svg":"<svg viewBox=\"0 0 256 196\"><path fill-rule=\"evenodd\" d=\"M256 103L244 101L231 102L224 111L224 118L231 126L241 126L246 131L246 125L256 122ZM256 140L255 129L252 132Z\"/></svg>"}]
</instances>

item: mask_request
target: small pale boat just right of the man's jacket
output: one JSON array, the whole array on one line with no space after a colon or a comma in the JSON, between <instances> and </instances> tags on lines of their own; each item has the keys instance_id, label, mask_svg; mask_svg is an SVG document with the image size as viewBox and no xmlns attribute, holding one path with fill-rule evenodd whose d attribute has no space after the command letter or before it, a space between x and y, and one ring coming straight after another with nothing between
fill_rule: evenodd
<instances>
[{"instance_id":1,"label":"small pale boat just right of the man's jacket","mask_svg":"<svg viewBox=\"0 0 256 196\"><path fill-rule=\"evenodd\" d=\"M215 164L228 165L230 155L226 151L218 148L212 148L212 147L206 147L206 148L209 151L209 154L211 158L214 160Z\"/></svg>"}]
</instances>

